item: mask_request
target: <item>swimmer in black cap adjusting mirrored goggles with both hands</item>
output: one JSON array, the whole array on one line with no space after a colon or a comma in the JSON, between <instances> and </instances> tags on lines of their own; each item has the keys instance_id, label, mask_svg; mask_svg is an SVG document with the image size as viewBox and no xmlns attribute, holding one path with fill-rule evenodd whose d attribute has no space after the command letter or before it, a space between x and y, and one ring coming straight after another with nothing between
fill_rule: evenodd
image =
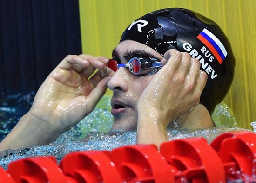
<instances>
[{"instance_id":1,"label":"swimmer in black cap adjusting mirrored goggles with both hands","mask_svg":"<svg viewBox=\"0 0 256 183\"><path fill-rule=\"evenodd\" d=\"M137 143L160 145L173 120L179 128L214 126L211 113L234 77L235 58L219 26L181 8L135 20L112 57L65 57L0 151L52 142L92 112L107 87L112 129L137 129Z\"/></svg>"}]
</instances>

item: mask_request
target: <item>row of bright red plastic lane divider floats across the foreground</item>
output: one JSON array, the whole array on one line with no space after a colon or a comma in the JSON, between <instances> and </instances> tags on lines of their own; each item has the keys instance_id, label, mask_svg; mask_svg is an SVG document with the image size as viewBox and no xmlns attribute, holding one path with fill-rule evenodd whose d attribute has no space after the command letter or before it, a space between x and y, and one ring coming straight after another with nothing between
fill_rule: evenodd
<instances>
[{"instance_id":1,"label":"row of bright red plastic lane divider floats across the foreground","mask_svg":"<svg viewBox=\"0 0 256 183\"><path fill-rule=\"evenodd\" d=\"M13 161L0 167L0 183L226 183L256 182L256 134L223 133L203 138L112 151L77 151L58 165L53 156Z\"/></svg>"}]
</instances>

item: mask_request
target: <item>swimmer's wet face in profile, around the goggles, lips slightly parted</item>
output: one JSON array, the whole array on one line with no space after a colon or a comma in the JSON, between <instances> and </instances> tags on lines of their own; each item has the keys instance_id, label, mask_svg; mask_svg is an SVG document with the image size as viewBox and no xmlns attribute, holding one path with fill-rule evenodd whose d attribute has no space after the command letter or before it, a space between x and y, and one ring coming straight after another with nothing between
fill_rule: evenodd
<instances>
[{"instance_id":1,"label":"swimmer's wet face in profile, around the goggles, lips slightly parted","mask_svg":"<svg viewBox=\"0 0 256 183\"><path fill-rule=\"evenodd\" d=\"M131 40L122 41L112 53L115 60L128 63L132 57L163 58L152 48ZM114 116L112 129L132 130L137 128L137 102L155 76L136 76L128 68L120 67L108 82L114 94L111 100L111 114Z\"/></svg>"}]
</instances>

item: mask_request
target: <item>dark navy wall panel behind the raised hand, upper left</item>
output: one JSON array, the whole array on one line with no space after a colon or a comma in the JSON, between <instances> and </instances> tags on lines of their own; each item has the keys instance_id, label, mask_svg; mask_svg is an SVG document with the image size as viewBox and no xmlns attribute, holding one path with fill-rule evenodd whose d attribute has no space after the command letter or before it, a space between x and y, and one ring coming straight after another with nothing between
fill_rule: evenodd
<instances>
[{"instance_id":1,"label":"dark navy wall panel behind the raised hand, upper left","mask_svg":"<svg viewBox=\"0 0 256 183\"><path fill-rule=\"evenodd\" d=\"M36 91L68 54L81 54L78 0L0 0L0 101Z\"/></svg>"}]
</instances>

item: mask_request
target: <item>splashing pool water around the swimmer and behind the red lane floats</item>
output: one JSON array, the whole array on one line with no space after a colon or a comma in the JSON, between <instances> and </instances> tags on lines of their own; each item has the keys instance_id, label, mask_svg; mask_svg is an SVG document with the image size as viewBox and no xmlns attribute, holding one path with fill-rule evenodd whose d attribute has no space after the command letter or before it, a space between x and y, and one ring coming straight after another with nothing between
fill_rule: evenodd
<instances>
[{"instance_id":1,"label":"splashing pool water around the swimmer and behind the red lane floats","mask_svg":"<svg viewBox=\"0 0 256 183\"><path fill-rule=\"evenodd\" d=\"M27 95L17 94L8 96L0 104L0 139L3 139L20 117L27 113L33 98L34 92ZM63 156L72 151L111 150L123 145L134 145L135 131L110 131L113 123L110 99L109 96L104 96L91 114L49 145L0 152L0 166L7 169L10 162L26 157L53 155L60 161ZM169 139L204 137L210 143L222 133L241 130L236 127L235 117L224 103L216 107L212 116L217 128L169 129Z\"/></svg>"}]
</instances>

